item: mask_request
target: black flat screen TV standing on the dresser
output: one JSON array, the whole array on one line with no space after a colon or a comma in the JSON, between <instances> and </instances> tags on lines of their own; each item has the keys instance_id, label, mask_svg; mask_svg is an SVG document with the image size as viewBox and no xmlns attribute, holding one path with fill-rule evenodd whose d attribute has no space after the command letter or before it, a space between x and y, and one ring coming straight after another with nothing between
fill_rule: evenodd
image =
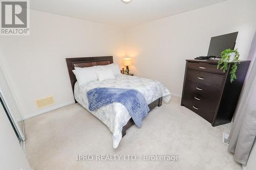
<instances>
[{"instance_id":1,"label":"black flat screen TV standing on the dresser","mask_svg":"<svg viewBox=\"0 0 256 170\"><path fill-rule=\"evenodd\" d=\"M211 37L207 56L221 58L221 52L227 48L234 49L238 32Z\"/></svg>"}]
</instances>

